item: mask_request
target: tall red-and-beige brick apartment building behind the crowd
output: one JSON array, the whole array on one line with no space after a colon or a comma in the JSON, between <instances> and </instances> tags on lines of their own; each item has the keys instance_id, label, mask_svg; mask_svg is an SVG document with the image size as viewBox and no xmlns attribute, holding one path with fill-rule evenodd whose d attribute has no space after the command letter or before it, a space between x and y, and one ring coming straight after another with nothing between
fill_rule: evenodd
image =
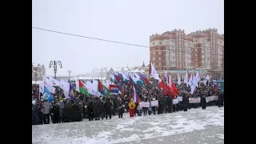
<instances>
[{"instance_id":1,"label":"tall red-and-beige brick apartment building behind the crowd","mask_svg":"<svg viewBox=\"0 0 256 144\"><path fill-rule=\"evenodd\" d=\"M185 34L166 31L150 36L150 61L159 73L166 70L223 70L224 34L217 29Z\"/></svg>"}]
</instances>

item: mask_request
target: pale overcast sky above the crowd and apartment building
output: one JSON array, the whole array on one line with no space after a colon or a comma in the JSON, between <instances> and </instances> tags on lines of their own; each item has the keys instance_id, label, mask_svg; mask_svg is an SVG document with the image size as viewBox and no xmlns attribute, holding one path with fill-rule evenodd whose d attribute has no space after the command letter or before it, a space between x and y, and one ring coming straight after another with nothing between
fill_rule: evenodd
<instances>
[{"instance_id":1,"label":"pale overcast sky above the crowd and apartment building","mask_svg":"<svg viewBox=\"0 0 256 144\"><path fill-rule=\"evenodd\" d=\"M151 34L207 28L224 34L223 0L33 0L32 26L71 34L149 46ZM140 66L149 48L101 42L32 29L32 62L62 62L58 75L94 68Z\"/></svg>"}]
</instances>

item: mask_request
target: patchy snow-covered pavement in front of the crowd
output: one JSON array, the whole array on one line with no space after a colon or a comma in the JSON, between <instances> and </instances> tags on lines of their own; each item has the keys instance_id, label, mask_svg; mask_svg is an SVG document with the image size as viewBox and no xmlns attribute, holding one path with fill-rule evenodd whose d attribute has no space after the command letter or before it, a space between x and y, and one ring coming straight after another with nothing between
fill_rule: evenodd
<instances>
[{"instance_id":1,"label":"patchy snow-covered pavement in front of the crowd","mask_svg":"<svg viewBox=\"0 0 256 144\"><path fill-rule=\"evenodd\" d=\"M224 143L224 108L32 126L32 143Z\"/></svg>"}]
</instances>

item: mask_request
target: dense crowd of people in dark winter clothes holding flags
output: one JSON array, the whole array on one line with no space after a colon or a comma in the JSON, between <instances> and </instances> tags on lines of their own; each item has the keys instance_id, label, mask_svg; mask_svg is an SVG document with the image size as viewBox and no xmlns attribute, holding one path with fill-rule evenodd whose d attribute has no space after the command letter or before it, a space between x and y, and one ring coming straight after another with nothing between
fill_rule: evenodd
<instances>
[{"instance_id":1,"label":"dense crowd of people in dark winter clothes holding flags","mask_svg":"<svg viewBox=\"0 0 256 144\"><path fill-rule=\"evenodd\" d=\"M38 85L32 85L32 125L42 125L62 122L80 122L88 119L89 121L98 121L100 119L112 118L112 115L118 115L122 118L123 113L130 113L130 117L166 114L177 111L187 111L191 108L206 109L206 106L223 106L224 91L214 90L212 83L204 85L200 83L199 88L194 90L194 94L190 94L190 86L182 83L178 86L178 95L175 97L166 96L157 88L157 84L149 84L145 86L137 86L137 94L140 102L149 102L148 107L139 106L139 103L133 101L132 88L126 86L126 92L123 94L86 97L85 94L75 94L76 98L71 100L65 98L61 91L56 92L53 102L47 102L42 99L42 94L38 94ZM74 86L75 87L75 86ZM58 87L56 90L61 90ZM206 97L216 95L218 101L206 102ZM182 97L182 102L173 103L173 99ZM190 103L189 98L201 98L200 103ZM158 106L152 106L151 101L158 100Z\"/></svg>"}]
</instances>

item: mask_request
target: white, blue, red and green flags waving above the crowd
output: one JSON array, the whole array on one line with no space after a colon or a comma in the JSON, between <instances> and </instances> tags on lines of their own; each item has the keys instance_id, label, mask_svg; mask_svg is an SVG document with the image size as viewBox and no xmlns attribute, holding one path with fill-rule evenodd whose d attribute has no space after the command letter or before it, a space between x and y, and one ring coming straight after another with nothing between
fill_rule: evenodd
<instances>
[{"instance_id":1,"label":"white, blue, red and green flags waving above the crowd","mask_svg":"<svg viewBox=\"0 0 256 144\"><path fill-rule=\"evenodd\" d=\"M171 79L171 74L166 72L165 80L159 78L157 70L155 70L154 65L150 62L150 76L154 79L158 80L158 87L162 90L162 94L166 94L172 97L175 97L178 94L177 87L174 85L174 82ZM198 86L198 82L200 80L200 75L197 72L196 75L186 73L184 78L184 83L186 86L190 86L191 94L194 93L194 90ZM204 83L205 85L209 85L210 76L207 74ZM90 96L90 94L94 96L107 96L109 94L118 94L121 92L126 92L122 86L126 84L126 86L131 86L133 88L133 98L134 102L139 103L138 94L136 93L136 89L134 86L142 86L144 84L149 84L149 79L146 78L146 75L142 72L138 75L135 72L116 72L114 74L110 74L110 80L100 81L93 80L92 82L86 81L85 83L82 80L78 80L76 82L76 91L86 94L86 96ZM178 74L178 85L180 85L181 77ZM63 91L66 98L74 99L74 91L73 85L70 82L65 82L63 80L58 81L54 78L49 77L43 78L43 81L39 83L39 92L43 94L42 98L47 99L49 102L54 100L52 94L55 93L54 86L59 86Z\"/></svg>"}]
</instances>

